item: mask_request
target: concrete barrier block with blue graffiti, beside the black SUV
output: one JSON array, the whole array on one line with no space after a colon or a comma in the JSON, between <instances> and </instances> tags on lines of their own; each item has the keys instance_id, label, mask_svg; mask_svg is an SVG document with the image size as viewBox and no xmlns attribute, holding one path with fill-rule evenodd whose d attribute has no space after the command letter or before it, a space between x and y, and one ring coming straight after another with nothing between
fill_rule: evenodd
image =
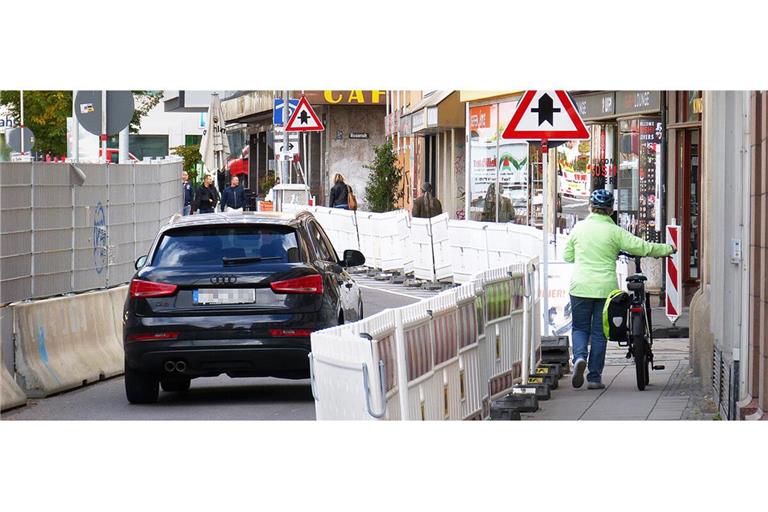
<instances>
[{"instance_id":1,"label":"concrete barrier block with blue graffiti, beside the black SUV","mask_svg":"<svg viewBox=\"0 0 768 512\"><path fill-rule=\"evenodd\" d=\"M13 305L16 368L27 396L48 396L122 373L114 295L104 290Z\"/></svg>"}]
</instances>

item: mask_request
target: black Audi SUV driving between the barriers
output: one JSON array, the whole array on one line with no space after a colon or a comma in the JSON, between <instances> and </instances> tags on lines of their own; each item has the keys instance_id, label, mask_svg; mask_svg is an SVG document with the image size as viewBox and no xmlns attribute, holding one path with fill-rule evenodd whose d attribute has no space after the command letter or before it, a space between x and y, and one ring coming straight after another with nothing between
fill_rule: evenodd
<instances>
[{"instance_id":1,"label":"black Audi SUV driving between the barriers","mask_svg":"<svg viewBox=\"0 0 768 512\"><path fill-rule=\"evenodd\" d=\"M309 376L310 333L363 316L346 268L307 212L210 213L160 229L123 313L131 403L185 391L195 377Z\"/></svg>"}]
</instances>

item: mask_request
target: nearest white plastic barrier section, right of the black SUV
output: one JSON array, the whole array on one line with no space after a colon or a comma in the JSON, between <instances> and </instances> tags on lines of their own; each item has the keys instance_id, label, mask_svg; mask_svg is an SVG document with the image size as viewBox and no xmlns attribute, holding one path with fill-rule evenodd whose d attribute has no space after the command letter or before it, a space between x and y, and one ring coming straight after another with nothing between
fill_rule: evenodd
<instances>
[{"instance_id":1,"label":"nearest white plastic barrier section, right of the black SUV","mask_svg":"<svg viewBox=\"0 0 768 512\"><path fill-rule=\"evenodd\" d=\"M540 360L538 259L312 334L318 420L480 419Z\"/></svg>"}]
</instances>

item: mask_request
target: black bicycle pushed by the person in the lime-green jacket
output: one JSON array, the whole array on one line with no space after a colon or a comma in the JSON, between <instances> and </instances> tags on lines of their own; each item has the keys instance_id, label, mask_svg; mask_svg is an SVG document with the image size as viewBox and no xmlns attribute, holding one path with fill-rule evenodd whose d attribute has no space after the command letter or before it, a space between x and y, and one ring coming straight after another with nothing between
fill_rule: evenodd
<instances>
[{"instance_id":1,"label":"black bicycle pushed by the person in the lime-green jacket","mask_svg":"<svg viewBox=\"0 0 768 512\"><path fill-rule=\"evenodd\" d=\"M647 277L640 269L640 256L632 256L620 252L619 256L626 256L635 260L635 273L627 277L627 289L632 293L629 306L629 336L625 344L619 342L620 347L628 346L627 359L635 360L635 376L637 389L643 391L650 381L650 369L663 370L664 365L653 364L653 321L651 317L651 303L648 293L645 291Z\"/></svg>"}]
</instances>

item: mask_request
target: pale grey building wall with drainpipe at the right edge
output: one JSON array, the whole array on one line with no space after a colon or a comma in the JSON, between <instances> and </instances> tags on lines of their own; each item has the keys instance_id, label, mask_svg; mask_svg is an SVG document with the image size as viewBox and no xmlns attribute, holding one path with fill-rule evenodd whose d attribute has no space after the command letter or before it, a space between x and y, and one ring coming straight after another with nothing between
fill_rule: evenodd
<instances>
[{"instance_id":1,"label":"pale grey building wall with drainpipe at the right edge","mask_svg":"<svg viewBox=\"0 0 768 512\"><path fill-rule=\"evenodd\" d=\"M768 419L766 93L703 95L694 373L723 419Z\"/></svg>"}]
</instances>

